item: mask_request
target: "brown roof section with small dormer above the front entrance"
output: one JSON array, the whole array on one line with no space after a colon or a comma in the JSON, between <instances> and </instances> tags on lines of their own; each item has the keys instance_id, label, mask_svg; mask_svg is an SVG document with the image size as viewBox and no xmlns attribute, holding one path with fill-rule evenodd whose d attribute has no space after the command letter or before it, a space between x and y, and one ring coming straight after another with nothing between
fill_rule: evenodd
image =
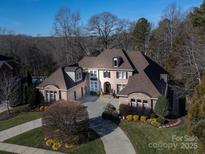
<instances>
[{"instance_id":1,"label":"brown roof section with small dormer above the front entrance","mask_svg":"<svg viewBox=\"0 0 205 154\"><path fill-rule=\"evenodd\" d=\"M121 57L123 60L118 68L113 67L113 58L115 57ZM107 49L96 57L84 57L79 61L79 66L83 68L134 69L121 49Z\"/></svg>"}]
</instances>

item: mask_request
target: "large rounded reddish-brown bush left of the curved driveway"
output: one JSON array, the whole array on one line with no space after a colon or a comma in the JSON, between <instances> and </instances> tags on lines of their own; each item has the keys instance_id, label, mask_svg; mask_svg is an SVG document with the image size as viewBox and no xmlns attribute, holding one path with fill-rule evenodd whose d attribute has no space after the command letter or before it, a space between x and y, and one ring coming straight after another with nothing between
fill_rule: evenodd
<instances>
[{"instance_id":1,"label":"large rounded reddish-brown bush left of the curved driveway","mask_svg":"<svg viewBox=\"0 0 205 154\"><path fill-rule=\"evenodd\" d=\"M88 112L79 102L55 102L43 112L42 121L46 138L75 145L88 141ZM60 148L58 143L52 146Z\"/></svg>"}]
</instances>

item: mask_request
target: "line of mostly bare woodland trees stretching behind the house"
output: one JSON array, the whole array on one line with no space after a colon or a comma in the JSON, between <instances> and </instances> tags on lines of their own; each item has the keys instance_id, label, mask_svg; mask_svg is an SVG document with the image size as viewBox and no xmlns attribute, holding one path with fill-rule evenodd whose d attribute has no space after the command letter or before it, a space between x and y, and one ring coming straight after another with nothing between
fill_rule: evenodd
<instances>
[{"instance_id":1,"label":"line of mostly bare woodland trees stretching behind the house","mask_svg":"<svg viewBox=\"0 0 205 154\"><path fill-rule=\"evenodd\" d=\"M186 12L171 4L155 27L146 18L130 21L110 12L93 15L82 25L80 12L63 7L54 17L53 36L16 35L0 28L0 53L14 57L22 75L49 75L107 48L141 51L183 85L179 95L191 95L205 67L204 11L205 2Z\"/></svg>"}]
</instances>

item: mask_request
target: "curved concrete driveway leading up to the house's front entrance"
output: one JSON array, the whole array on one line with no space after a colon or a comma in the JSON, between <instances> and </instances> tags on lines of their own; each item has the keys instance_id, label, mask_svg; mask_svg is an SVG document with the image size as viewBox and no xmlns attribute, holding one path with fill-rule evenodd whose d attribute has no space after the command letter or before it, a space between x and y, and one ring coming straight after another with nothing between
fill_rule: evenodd
<instances>
[{"instance_id":1,"label":"curved concrete driveway leading up to the house's front entrance","mask_svg":"<svg viewBox=\"0 0 205 154\"><path fill-rule=\"evenodd\" d=\"M101 136L106 154L135 154L130 140L121 128L113 122L101 118L107 103L118 108L117 99L87 96L81 101L88 107L90 126Z\"/></svg>"}]
</instances>

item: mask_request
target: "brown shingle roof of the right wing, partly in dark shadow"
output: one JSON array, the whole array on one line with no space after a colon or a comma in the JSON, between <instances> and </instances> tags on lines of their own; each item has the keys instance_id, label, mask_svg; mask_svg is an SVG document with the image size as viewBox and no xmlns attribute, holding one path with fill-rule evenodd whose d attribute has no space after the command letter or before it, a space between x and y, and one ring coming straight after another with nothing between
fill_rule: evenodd
<instances>
[{"instance_id":1,"label":"brown shingle roof of the right wing, partly in dark shadow","mask_svg":"<svg viewBox=\"0 0 205 154\"><path fill-rule=\"evenodd\" d=\"M160 79L160 74L167 74L167 72L141 52L130 51L127 55L137 72L129 78L128 84L119 95L128 95L133 92L144 92L152 97L163 95L166 83Z\"/></svg>"}]
</instances>

